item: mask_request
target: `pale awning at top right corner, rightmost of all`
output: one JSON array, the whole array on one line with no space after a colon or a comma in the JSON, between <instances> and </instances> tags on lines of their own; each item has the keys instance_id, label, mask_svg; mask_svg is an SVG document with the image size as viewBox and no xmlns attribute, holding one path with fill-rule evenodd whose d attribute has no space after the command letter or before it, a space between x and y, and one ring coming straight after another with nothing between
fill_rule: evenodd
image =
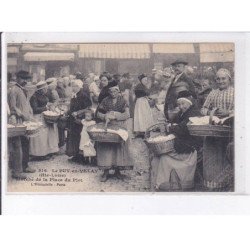
<instances>
[{"instance_id":1,"label":"pale awning at top right corner, rightmost of all","mask_svg":"<svg viewBox=\"0 0 250 250\"><path fill-rule=\"evenodd\" d=\"M200 62L233 62L234 44L233 43L201 43Z\"/></svg>"}]
</instances>

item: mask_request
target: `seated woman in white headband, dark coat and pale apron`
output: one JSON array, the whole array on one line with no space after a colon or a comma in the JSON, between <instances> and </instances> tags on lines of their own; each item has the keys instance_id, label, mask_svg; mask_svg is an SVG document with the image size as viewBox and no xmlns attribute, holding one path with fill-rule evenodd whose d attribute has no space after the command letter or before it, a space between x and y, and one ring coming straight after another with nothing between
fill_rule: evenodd
<instances>
[{"instance_id":1,"label":"seated woman in white headband, dark coat and pale apron","mask_svg":"<svg viewBox=\"0 0 250 250\"><path fill-rule=\"evenodd\" d=\"M167 126L168 133L175 135L174 151L154 157L152 165L152 182L157 190L191 189L194 187L194 174L197 164L197 151L202 145L199 138L189 134L187 123L189 117L200 116L193 105L189 91L182 91L177 98L180 109L173 124Z\"/></svg>"}]
</instances>

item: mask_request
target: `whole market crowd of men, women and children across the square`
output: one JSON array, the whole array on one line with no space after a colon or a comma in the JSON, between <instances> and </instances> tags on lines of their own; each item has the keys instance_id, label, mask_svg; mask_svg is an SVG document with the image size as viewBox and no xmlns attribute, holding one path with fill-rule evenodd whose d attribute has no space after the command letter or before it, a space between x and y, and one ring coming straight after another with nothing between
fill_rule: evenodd
<instances>
[{"instance_id":1,"label":"whole market crowd of men, women and children across the square","mask_svg":"<svg viewBox=\"0 0 250 250\"><path fill-rule=\"evenodd\" d=\"M233 117L234 87L231 72L225 68L218 69L213 77L204 76L198 81L192 76L192 70L186 61L176 60L164 70L153 69L150 74L138 76L77 72L32 83L27 71L9 74L8 123L39 121L43 124L35 136L8 139L12 177L25 179L28 173L34 173L30 160L47 160L65 153L71 162L91 163L101 168L103 182L110 177L111 169L122 179L121 170L133 169L132 140L144 138L146 131L159 122L154 118L156 111L166 122L166 133L174 134L176 139L173 152L150 158L153 186L156 190L173 188L174 170L175 179L183 189L193 188L206 143L189 134L189 118L209 115L214 108L218 117ZM57 123L47 123L43 112L53 111L61 103L68 104L68 110ZM96 123L125 128L129 138L121 144L94 143L87 128ZM232 148L233 141L228 139L223 150L231 169Z\"/></svg>"}]
</instances>

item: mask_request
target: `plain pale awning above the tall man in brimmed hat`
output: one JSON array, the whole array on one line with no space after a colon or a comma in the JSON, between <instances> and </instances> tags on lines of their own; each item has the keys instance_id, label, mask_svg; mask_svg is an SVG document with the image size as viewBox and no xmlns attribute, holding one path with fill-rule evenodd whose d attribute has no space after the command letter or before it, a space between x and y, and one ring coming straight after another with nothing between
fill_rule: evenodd
<instances>
[{"instance_id":1,"label":"plain pale awning above the tall man in brimmed hat","mask_svg":"<svg viewBox=\"0 0 250 250\"><path fill-rule=\"evenodd\" d=\"M194 53L192 43L157 43L153 44L155 54L191 54Z\"/></svg>"}]
</instances>

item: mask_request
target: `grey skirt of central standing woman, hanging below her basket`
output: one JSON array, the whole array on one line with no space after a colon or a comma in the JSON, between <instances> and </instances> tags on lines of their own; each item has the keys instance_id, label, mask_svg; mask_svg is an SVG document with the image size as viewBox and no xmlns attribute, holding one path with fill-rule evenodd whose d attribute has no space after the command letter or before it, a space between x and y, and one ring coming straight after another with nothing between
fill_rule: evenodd
<instances>
[{"instance_id":1,"label":"grey skirt of central standing woman, hanging below her basket","mask_svg":"<svg viewBox=\"0 0 250 250\"><path fill-rule=\"evenodd\" d=\"M127 129L128 121L116 121L112 122L117 126ZM101 169L110 169L117 167L119 169L132 169L133 159L131 150L131 139L130 137L126 142L119 143L97 143L97 165Z\"/></svg>"}]
</instances>

